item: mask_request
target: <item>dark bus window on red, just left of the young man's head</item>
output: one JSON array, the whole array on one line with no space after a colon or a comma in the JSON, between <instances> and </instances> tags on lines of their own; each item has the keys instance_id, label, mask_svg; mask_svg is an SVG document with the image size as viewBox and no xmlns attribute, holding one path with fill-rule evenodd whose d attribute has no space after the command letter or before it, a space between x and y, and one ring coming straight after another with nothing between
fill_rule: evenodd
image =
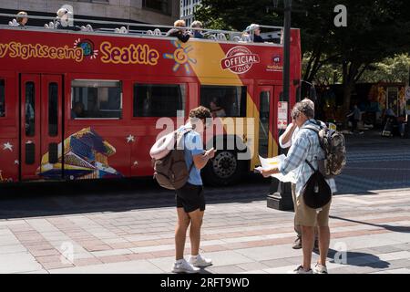
<instances>
[{"instance_id":1,"label":"dark bus window on red, just left of the young man's head","mask_svg":"<svg viewBox=\"0 0 410 292\"><path fill-rule=\"evenodd\" d=\"M134 84L134 117L180 117L185 109L185 86Z\"/></svg>"}]
</instances>

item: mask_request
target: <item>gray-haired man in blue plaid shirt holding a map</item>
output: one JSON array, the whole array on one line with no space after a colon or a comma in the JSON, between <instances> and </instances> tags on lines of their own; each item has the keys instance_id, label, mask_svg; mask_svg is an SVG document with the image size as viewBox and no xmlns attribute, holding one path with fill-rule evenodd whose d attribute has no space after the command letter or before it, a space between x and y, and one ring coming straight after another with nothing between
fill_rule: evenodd
<instances>
[{"instance_id":1,"label":"gray-haired man in blue plaid shirt holding a map","mask_svg":"<svg viewBox=\"0 0 410 292\"><path fill-rule=\"evenodd\" d=\"M297 205L297 222L302 226L302 251L303 264L298 266L294 272L297 274L312 274L311 269L313 241L314 241L314 226L317 223L319 229L319 250L320 259L314 266L314 273L327 274L326 257L330 245L330 230L329 230L329 210L330 203L324 205L321 209L315 210L308 207L303 202L302 188L313 174L313 170L305 162L311 162L315 169L318 168L318 161L324 159L324 151L322 150L319 138L316 132L303 128L306 125L314 125L316 121L313 120L314 109L312 104L308 101L302 100L296 103L292 110L292 120L300 129L292 142L286 159L279 167L270 170L263 170L262 174L268 177L272 174L281 172L283 175L292 172L299 168L297 172L297 182L295 185L296 205ZM332 193L336 192L336 185L334 180L326 180L329 184Z\"/></svg>"}]
</instances>

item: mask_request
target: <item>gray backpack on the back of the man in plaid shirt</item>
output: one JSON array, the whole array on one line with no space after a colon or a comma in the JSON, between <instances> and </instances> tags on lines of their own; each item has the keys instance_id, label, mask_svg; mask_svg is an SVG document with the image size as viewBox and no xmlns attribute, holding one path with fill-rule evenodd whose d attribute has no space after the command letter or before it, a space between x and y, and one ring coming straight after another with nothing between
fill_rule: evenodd
<instances>
[{"instance_id":1,"label":"gray backpack on the back of the man in plaid shirt","mask_svg":"<svg viewBox=\"0 0 410 292\"><path fill-rule=\"evenodd\" d=\"M316 125L320 127L320 130L312 125L306 125L303 129L313 130L317 133L319 143L325 154L324 160L319 161L319 171L323 174L324 178L331 179L342 173L346 164L344 136L337 130L323 127L319 121L317 121Z\"/></svg>"}]
</instances>

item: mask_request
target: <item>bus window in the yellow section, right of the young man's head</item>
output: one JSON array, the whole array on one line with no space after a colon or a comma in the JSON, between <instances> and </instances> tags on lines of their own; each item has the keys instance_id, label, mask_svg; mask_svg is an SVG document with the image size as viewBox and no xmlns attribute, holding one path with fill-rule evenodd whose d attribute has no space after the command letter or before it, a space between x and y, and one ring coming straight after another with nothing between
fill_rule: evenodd
<instances>
[{"instance_id":1,"label":"bus window in the yellow section, right of the young man's head","mask_svg":"<svg viewBox=\"0 0 410 292\"><path fill-rule=\"evenodd\" d=\"M213 117L246 117L246 86L200 87L200 105Z\"/></svg>"}]
</instances>

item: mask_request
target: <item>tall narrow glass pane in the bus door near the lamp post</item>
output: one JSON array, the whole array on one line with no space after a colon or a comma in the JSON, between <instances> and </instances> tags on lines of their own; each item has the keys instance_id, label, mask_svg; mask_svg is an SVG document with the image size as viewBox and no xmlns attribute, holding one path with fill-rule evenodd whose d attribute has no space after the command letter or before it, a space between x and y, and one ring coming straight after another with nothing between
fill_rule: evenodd
<instances>
[{"instance_id":1,"label":"tall narrow glass pane in the bus door near the lamp post","mask_svg":"<svg viewBox=\"0 0 410 292\"><path fill-rule=\"evenodd\" d=\"M269 150L270 94L269 91L262 91L260 96L259 155L262 157L268 157Z\"/></svg>"}]
</instances>

